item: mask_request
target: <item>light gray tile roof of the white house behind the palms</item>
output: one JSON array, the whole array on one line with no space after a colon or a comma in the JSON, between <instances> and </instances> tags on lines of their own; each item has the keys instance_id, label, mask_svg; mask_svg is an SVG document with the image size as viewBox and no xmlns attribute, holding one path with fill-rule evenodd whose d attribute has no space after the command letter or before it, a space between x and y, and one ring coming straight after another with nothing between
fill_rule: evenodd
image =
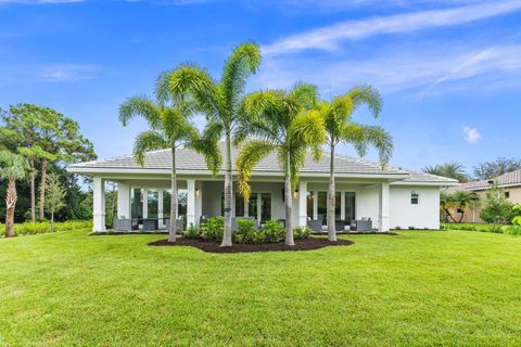
<instances>
[{"instance_id":1,"label":"light gray tile roof of the white house behind the palms","mask_svg":"<svg viewBox=\"0 0 521 347\"><path fill-rule=\"evenodd\" d=\"M239 155L239 150L233 147L231 151L232 162L234 163ZM306 158L306 163L301 172L306 174L328 174L329 172L330 154L325 153L319 162L315 162L312 156ZM416 171L407 171L395 167L382 167L372 162L364 160L356 157L350 157L344 155L335 155L335 172L336 174L352 174L352 175L396 175L404 178L404 175L409 175L409 178L405 178L406 182L425 182L425 183L448 183L452 184L455 181L444 177L427 175ZM71 171L81 168L104 168L109 169L169 169L171 166L171 152L170 150L160 150L147 153L144 157L144 165L141 167L132 155L119 156L109 159L100 159L92 162L85 162L71 165ZM176 167L179 174L186 171L207 171L206 163L203 155L191 149L178 149L176 152ZM79 170L78 170L79 171ZM276 153L269 154L264 158L254 169L254 172L280 172L282 174Z\"/></svg>"}]
</instances>

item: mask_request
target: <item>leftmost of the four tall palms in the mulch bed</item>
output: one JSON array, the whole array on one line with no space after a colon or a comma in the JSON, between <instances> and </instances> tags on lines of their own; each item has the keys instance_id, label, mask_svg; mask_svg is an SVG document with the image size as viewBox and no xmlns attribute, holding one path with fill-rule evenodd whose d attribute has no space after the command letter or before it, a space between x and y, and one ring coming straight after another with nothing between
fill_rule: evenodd
<instances>
[{"instance_id":1,"label":"leftmost of the four tall palms in the mulch bed","mask_svg":"<svg viewBox=\"0 0 521 347\"><path fill-rule=\"evenodd\" d=\"M193 146L203 152L207 158L208 166L214 168L216 147L201 145L203 139L199 137L196 128L190 123L190 117L195 108L189 102L180 102L176 106L157 104L147 97L129 98L119 107L119 120L124 126L130 118L141 116L149 123L150 130L142 131L136 138L134 155L137 162L144 165L144 155L148 151L158 149L170 149L171 152L171 175L170 175L170 227L168 230L168 242L176 242L177 211L178 211L178 189L176 175L176 150L180 146ZM214 152L212 152L214 151Z\"/></svg>"}]
</instances>

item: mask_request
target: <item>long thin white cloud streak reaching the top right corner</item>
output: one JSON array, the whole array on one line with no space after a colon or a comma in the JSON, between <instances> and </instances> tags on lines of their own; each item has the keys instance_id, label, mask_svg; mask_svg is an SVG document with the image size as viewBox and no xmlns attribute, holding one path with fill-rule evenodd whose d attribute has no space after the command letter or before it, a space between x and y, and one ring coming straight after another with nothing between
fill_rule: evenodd
<instances>
[{"instance_id":1,"label":"long thin white cloud streak reaching the top right corner","mask_svg":"<svg viewBox=\"0 0 521 347\"><path fill-rule=\"evenodd\" d=\"M365 21L348 21L283 38L263 47L264 54L284 54L308 49L335 50L339 42L381 34L410 33L454 26L518 11L521 0L494 1L447 10L420 11Z\"/></svg>"}]
</instances>

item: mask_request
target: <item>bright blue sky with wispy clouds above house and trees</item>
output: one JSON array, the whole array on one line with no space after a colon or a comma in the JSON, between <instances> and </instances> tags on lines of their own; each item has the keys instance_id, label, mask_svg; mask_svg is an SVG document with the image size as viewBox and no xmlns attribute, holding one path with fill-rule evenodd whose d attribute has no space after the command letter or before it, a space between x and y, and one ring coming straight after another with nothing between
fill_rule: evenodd
<instances>
[{"instance_id":1,"label":"bright blue sky with wispy clouds above house and trees","mask_svg":"<svg viewBox=\"0 0 521 347\"><path fill-rule=\"evenodd\" d=\"M0 0L0 107L53 107L100 157L129 154L145 125L122 127L118 105L181 62L218 77L243 40L263 49L250 91L378 88L381 118L355 119L393 134L395 166L521 156L520 0Z\"/></svg>"}]
</instances>

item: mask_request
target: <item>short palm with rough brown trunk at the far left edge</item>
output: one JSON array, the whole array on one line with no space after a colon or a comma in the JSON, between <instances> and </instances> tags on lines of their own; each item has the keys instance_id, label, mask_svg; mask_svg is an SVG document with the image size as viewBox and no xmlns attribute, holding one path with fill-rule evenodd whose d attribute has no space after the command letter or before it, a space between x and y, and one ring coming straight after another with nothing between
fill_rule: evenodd
<instances>
[{"instance_id":1,"label":"short palm with rough brown trunk at the far left edge","mask_svg":"<svg viewBox=\"0 0 521 347\"><path fill-rule=\"evenodd\" d=\"M9 151L0 151L0 178L8 180L5 196L5 237L14 235L14 208L16 206L16 181L27 177L29 164L20 154Z\"/></svg>"}]
</instances>

